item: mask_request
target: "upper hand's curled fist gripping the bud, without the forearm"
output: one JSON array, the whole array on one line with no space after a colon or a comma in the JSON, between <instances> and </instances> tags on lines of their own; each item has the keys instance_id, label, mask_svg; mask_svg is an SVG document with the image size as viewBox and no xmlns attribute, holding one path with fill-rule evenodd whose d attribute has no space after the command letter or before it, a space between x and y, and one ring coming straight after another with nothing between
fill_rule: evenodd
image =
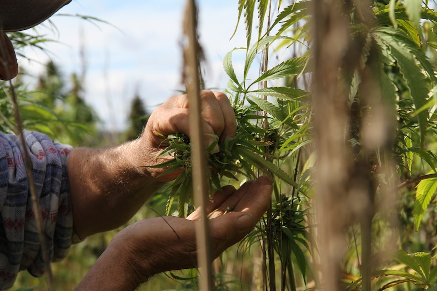
<instances>
[{"instance_id":1,"label":"upper hand's curled fist gripping the bud, without the forearm","mask_svg":"<svg viewBox=\"0 0 437 291\"><path fill-rule=\"evenodd\" d=\"M203 118L203 132L205 135L205 147L209 146L216 135L219 142L226 138L233 138L237 129L234 110L228 97L221 92L201 91ZM143 148L144 164L155 165L162 163L166 158L156 157L167 146L165 138L170 134L185 133L190 136L189 129L189 104L187 95L173 96L164 104L156 108L150 116L139 142ZM215 149L218 151L218 146ZM152 177L158 177L164 169L143 168ZM174 180L180 171L173 172L164 177L159 177L161 182Z\"/></svg>"}]
</instances>

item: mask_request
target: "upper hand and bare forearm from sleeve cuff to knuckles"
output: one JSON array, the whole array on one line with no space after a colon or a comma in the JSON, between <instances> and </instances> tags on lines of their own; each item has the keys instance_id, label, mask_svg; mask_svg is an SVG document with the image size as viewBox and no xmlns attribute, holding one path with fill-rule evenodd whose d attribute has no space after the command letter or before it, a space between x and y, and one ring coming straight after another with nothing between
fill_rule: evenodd
<instances>
[{"instance_id":1,"label":"upper hand and bare forearm from sleeve cuff to knuckles","mask_svg":"<svg viewBox=\"0 0 437 291\"><path fill-rule=\"evenodd\" d=\"M211 91L202 91L201 97L203 131L221 141L235 136L236 120L228 97ZM173 96L154 110L140 138L112 148L75 148L70 153L68 181L79 237L123 225L162 182L180 174L175 171L157 179L164 169L141 166L165 161L156 159L165 148L163 136L190 135L188 114L187 96Z\"/></svg>"}]
</instances>

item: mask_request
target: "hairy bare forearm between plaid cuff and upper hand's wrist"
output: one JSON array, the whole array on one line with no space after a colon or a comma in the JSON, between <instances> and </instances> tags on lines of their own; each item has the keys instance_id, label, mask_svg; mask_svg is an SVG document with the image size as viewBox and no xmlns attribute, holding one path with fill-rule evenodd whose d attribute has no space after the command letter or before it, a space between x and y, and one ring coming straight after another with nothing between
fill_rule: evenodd
<instances>
[{"instance_id":1,"label":"hairy bare forearm between plaid cuff and upper hand's wrist","mask_svg":"<svg viewBox=\"0 0 437 291\"><path fill-rule=\"evenodd\" d=\"M138 141L107 149L74 149L68 160L72 211L79 237L127 222L162 185L143 162Z\"/></svg>"}]
</instances>

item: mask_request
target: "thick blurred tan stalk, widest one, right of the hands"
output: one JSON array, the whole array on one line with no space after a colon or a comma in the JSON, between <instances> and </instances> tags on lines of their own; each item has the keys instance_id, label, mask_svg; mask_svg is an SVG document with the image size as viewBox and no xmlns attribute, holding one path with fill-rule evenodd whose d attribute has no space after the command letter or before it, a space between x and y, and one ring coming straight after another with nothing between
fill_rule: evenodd
<instances>
[{"instance_id":1,"label":"thick blurred tan stalk, widest one, right of the hands","mask_svg":"<svg viewBox=\"0 0 437 291\"><path fill-rule=\"evenodd\" d=\"M345 146L348 95L337 77L349 35L342 6L340 0L313 0L318 238L322 288L329 291L341 289L344 229L349 221L347 183L353 160Z\"/></svg>"}]
</instances>

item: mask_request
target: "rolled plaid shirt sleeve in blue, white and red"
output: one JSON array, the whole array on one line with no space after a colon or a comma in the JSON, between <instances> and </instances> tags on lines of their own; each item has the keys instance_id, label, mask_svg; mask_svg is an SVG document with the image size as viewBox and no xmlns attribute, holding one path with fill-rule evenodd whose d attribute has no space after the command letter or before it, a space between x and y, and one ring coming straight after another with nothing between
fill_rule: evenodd
<instances>
[{"instance_id":1,"label":"rolled plaid shirt sleeve in blue, white and red","mask_svg":"<svg viewBox=\"0 0 437 291\"><path fill-rule=\"evenodd\" d=\"M60 261L74 240L67 161L71 147L37 132L24 132L32 161L50 260ZM10 288L21 270L45 272L32 197L17 136L0 132L0 289Z\"/></svg>"}]
</instances>

